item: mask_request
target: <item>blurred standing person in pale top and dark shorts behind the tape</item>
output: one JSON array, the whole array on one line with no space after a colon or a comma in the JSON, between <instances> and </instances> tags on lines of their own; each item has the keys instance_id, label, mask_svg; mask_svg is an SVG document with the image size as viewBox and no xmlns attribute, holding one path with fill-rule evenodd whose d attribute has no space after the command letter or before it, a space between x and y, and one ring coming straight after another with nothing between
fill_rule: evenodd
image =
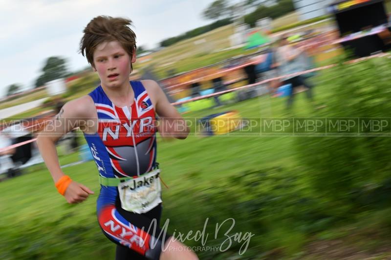
<instances>
[{"instance_id":1,"label":"blurred standing person in pale top and dark shorts behind the tape","mask_svg":"<svg viewBox=\"0 0 391 260\"><path fill-rule=\"evenodd\" d=\"M278 40L276 61L280 76L290 75L308 69L308 59L304 49L296 48L290 44L287 35L283 35L282 38ZM306 80L304 75L287 76L284 77L282 81L282 85L291 84L291 91L287 101L288 109L292 107L295 90L300 86L306 88L307 98L313 103L313 86Z\"/></svg>"}]
</instances>

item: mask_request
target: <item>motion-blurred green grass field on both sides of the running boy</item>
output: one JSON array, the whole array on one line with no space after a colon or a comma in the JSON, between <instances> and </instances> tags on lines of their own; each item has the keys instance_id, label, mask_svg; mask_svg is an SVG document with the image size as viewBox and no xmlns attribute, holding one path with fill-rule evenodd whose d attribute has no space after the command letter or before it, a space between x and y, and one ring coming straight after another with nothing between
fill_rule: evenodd
<instances>
[{"instance_id":1,"label":"motion-blurred green grass field on both sides of the running boy","mask_svg":"<svg viewBox=\"0 0 391 260\"><path fill-rule=\"evenodd\" d=\"M313 81L315 85L321 83L318 78ZM317 86L315 100L327 104L328 91L322 85ZM195 121L230 110L237 110L246 119L316 116L305 93L296 95L293 111L285 110L285 102L284 98L262 96L189 112L184 117ZM295 137L261 137L256 134L259 127L255 127L253 137L233 132L205 138L194 135L195 124L191 128L192 134L186 140L158 138L157 161L163 171L162 179L169 186L169 189L163 187L162 223L169 219L169 233L186 234L190 230L202 230L209 218L207 246L221 244L222 239L214 239L212 233L216 223L227 218L236 220L232 232L254 234L243 256L238 255L240 244L234 242L227 252L198 252L200 259L302 256L312 240L351 238L347 230L361 232L363 227L370 232L378 231L389 222L378 218L380 213L375 212L357 216L336 229L330 228L338 216L317 213L325 209L302 178L310 175L311 169L297 160ZM65 155L63 147L58 150L62 165L80 160L78 153ZM96 219L99 184L95 163L70 166L64 172L92 189L95 195L81 204L67 204L57 193L43 164L30 167L21 177L0 182L0 236L3 238L0 259L113 258L115 245L101 233ZM366 218L377 221L365 225ZM383 246L384 238L388 237L365 234L372 236L370 248ZM363 237L360 236L356 240ZM356 240L348 241L356 243ZM199 243L189 241L189 245Z\"/></svg>"}]
</instances>

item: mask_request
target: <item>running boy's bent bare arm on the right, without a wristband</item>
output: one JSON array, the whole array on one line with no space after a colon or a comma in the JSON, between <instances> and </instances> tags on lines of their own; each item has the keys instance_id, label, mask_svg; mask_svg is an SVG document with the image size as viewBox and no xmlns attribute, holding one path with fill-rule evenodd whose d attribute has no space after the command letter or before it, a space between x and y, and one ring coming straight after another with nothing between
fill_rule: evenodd
<instances>
[{"instance_id":1,"label":"running boy's bent bare arm on the right, without a wristband","mask_svg":"<svg viewBox=\"0 0 391 260\"><path fill-rule=\"evenodd\" d=\"M161 87L153 80L142 80L142 83L153 93L155 111L159 116L158 130L160 134L163 137L186 139L190 129L186 125L186 121L167 99Z\"/></svg>"}]
</instances>

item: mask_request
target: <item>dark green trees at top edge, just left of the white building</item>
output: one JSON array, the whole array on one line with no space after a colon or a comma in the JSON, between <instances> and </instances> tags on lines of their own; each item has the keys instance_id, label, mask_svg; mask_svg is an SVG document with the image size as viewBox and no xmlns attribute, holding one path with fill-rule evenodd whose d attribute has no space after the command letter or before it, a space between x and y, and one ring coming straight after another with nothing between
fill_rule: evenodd
<instances>
[{"instance_id":1,"label":"dark green trees at top edge, just left of the white building","mask_svg":"<svg viewBox=\"0 0 391 260\"><path fill-rule=\"evenodd\" d=\"M279 0L278 2L270 7L261 4L254 12L244 16L244 22L254 27L257 20L265 17L275 19L295 10L292 0Z\"/></svg>"}]
</instances>

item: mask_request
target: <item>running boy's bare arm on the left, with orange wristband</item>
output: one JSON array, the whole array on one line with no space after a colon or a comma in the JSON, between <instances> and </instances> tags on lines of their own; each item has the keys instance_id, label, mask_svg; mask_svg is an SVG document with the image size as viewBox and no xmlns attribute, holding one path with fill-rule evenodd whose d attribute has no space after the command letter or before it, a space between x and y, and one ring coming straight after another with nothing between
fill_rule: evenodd
<instances>
[{"instance_id":1,"label":"running boy's bare arm on the left, with orange wristband","mask_svg":"<svg viewBox=\"0 0 391 260\"><path fill-rule=\"evenodd\" d=\"M54 183L57 183L65 174L60 168L55 143L67 132L76 127L83 128L87 119L86 105L88 106L88 97L82 97L77 100L67 102L60 113L50 120L38 135L37 144L42 158L49 170ZM65 199L68 203L77 203L86 200L89 194L93 192L86 186L71 181L65 190Z\"/></svg>"}]
</instances>

